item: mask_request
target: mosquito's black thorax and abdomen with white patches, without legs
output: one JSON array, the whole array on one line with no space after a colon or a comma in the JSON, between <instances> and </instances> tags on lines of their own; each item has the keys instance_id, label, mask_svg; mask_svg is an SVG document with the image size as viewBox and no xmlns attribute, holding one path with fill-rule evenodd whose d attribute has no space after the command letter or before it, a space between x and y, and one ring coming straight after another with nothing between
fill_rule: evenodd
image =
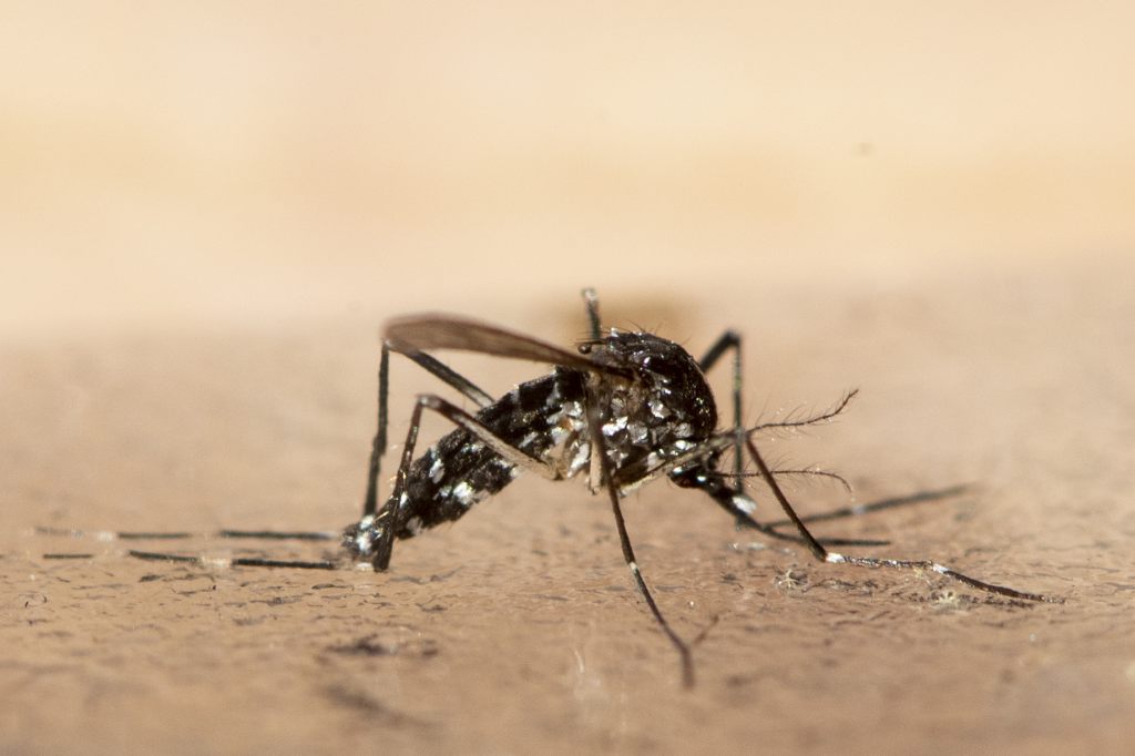
<instances>
[{"instance_id":1,"label":"mosquito's black thorax and abdomen with white patches, without legs","mask_svg":"<svg viewBox=\"0 0 1135 756\"><path fill-rule=\"evenodd\" d=\"M606 409L602 432L607 464L620 495L673 471L672 460L703 448L713 435L717 412L698 363L678 344L646 333L612 329L579 347L596 363L632 372L633 380L595 380L586 371L556 367L481 408L473 420L501 443L543 465L562 480L588 472L602 485L592 464L592 439L586 402ZM442 437L409 467L401 492L344 534L355 558L373 558L384 534L411 538L422 530L460 519L481 499L501 492L521 467L486 443L488 434L459 428ZM684 485L684 484L683 484Z\"/></svg>"}]
</instances>

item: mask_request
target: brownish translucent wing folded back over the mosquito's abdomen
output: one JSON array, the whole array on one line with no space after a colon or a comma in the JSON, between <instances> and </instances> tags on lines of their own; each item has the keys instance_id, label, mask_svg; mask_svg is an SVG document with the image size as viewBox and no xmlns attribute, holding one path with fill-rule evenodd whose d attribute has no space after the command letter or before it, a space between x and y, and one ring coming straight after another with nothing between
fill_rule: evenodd
<instances>
[{"instance_id":1,"label":"brownish translucent wing folded back over the mosquito's abdomen","mask_svg":"<svg viewBox=\"0 0 1135 756\"><path fill-rule=\"evenodd\" d=\"M497 328L478 320L447 314L419 314L395 318L386 322L384 336L397 351L459 350L496 356L550 362L565 368L602 372L620 378L633 378L630 370L605 366L577 352Z\"/></svg>"}]
</instances>

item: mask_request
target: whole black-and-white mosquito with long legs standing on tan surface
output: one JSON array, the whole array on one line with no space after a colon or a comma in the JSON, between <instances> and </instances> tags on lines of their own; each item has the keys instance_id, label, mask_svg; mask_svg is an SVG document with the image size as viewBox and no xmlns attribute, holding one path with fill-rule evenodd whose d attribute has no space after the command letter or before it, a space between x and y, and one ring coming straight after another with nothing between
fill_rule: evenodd
<instances>
[{"instance_id":1,"label":"whole black-and-white mosquito with long legs standing on tan surface","mask_svg":"<svg viewBox=\"0 0 1135 756\"><path fill-rule=\"evenodd\" d=\"M930 560L893 560L852 556L831 546L877 546L886 541L814 537L806 519L797 514L777 477L816 471L772 470L758 451L758 431L825 422L839 414L856 392L846 394L830 411L802 420L762 423L742 422L743 388L741 337L723 333L700 359L681 345L661 336L604 328L594 289L583 291L589 337L574 351L520 334L452 314L415 314L395 318L382 334L378 369L378 428L371 444L367 489L361 519L339 537L350 557L369 563L376 571L390 564L395 540L412 538L443 522L464 516L474 504L497 494L523 472L548 480L585 476L592 494L603 494L611 504L623 558L631 579L662 632L681 660L682 681L693 684L691 645L666 621L644 578L627 531L621 499L644 484L665 477L682 488L692 488L728 512L738 527L766 536L792 540L807 547L819 562L861 568L931 571L990 594L1029 602L1060 603L1062 599L999 586L968 577ZM552 372L522 383L494 398L429 352L454 350L493 356L550 363ZM387 451L390 354L401 354L442 379L477 405L469 412L437 394L419 394L406 431L393 490L379 507L379 477ZM706 373L732 353L732 422L718 427L717 405ZM454 430L415 456L419 429L426 411L442 415ZM732 452L732 470L722 470ZM745 459L756 465L746 473ZM783 509L787 520L759 522L756 503L746 490L747 477L759 478ZM838 476L835 476L838 478ZM939 494L955 493L956 489ZM933 494L932 494L933 496ZM881 502L835 513L859 513L919 496ZM813 519L830 519L833 513ZM780 528L791 526L794 532ZM222 537L327 539L328 534L277 531L221 531ZM184 537L187 534L121 534L133 538ZM199 557L131 552L141 558L196 562ZM53 555L61 558L67 555ZM293 562L263 558L233 560L232 564L335 569L334 562Z\"/></svg>"}]
</instances>

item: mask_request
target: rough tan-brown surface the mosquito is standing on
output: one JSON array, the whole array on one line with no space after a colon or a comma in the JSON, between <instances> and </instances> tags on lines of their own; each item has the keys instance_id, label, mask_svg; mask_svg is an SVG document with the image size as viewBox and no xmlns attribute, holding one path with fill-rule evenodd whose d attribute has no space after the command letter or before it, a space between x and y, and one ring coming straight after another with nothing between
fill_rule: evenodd
<instances>
[{"instance_id":1,"label":"rough tan-brown surface the mosquito is standing on","mask_svg":"<svg viewBox=\"0 0 1135 756\"><path fill-rule=\"evenodd\" d=\"M400 544L382 576L149 564L124 544L23 531L346 524L370 431L365 330L8 352L3 749L1123 753L1135 711L1126 289L1022 277L750 304L750 402L771 412L864 388L841 422L766 445L772 456L838 469L860 501L977 484L824 531L1069 600L1019 606L753 551L714 505L655 484L627 503L644 570L684 636L718 618L692 691L630 588L609 513L574 482L522 479ZM570 292L564 304L566 324L579 312ZM713 309L690 306L708 329ZM555 312L513 316L555 330ZM396 366L401 410L422 384L412 372ZM503 377L491 363L477 375ZM791 490L813 511L839 502ZM239 553L250 546L260 553ZM68 551L96 556L41 557Z\"/></svg>"}]
</instances>

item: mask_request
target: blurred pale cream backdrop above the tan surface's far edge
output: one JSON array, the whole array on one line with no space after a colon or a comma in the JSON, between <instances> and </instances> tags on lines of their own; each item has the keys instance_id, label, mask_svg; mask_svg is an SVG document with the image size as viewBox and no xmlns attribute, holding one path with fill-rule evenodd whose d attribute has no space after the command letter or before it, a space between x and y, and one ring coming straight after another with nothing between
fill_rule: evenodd
<instances>
[{"instance_id":1,"label":"blurred pale cream backdrop above the tan surface's far edge","mask_svg":"<svg viewBox=\"0 0 1135 756\"><path fill-rule=\"evenodd\" d=\"M1098 268L1135 245L1133 25L5 2L0 336Z\"/></svg>"}]
</instances>

